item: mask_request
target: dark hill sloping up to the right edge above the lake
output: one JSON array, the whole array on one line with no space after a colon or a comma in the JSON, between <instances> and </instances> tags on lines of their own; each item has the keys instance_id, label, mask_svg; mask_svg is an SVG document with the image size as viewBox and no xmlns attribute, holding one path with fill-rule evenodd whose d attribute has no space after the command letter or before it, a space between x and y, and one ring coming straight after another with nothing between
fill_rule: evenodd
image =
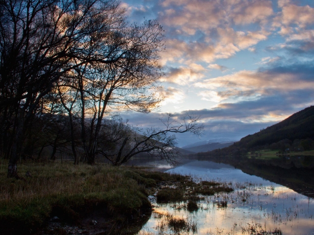
<instances>
[{"instance_id":1,"label":"dark hill sloping up to the right edge above the lake","mask_svg":"<svg viewBox=\"0 0 314 235\"><path fill-rule=\"evenodd\" d=\"M209 154L244 154L247 151L263 148L283 149L285 151L289 146L306 150L314 147L313 139L314 106L310 106L277 124L262 129L253 135L243 137L240 141L221 151L213 150Z\"/></svg>"}]
</instances>

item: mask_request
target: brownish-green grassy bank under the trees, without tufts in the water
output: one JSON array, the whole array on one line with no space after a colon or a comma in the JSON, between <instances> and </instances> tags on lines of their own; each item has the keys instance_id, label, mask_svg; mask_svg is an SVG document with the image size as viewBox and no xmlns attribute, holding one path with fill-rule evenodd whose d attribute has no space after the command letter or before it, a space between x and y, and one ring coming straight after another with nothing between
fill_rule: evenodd
<instances>
[{"instance_id":1,"label":"brownish-green grassy bank under the trees, without tufts in the water","mask_svg":"<svg viewBox=\"0 0 314 235\"><path fill-rule=\"evenodd\" d=\"M132 167L52 162L22 162L21 180L8 179L6 171L7 162L2 161L0 228L5 234L34 233L54 216L78 224L94 211L101 211L108 230L121 230L126 220L150 213L147 188L166 175ZM31 177L26 177L27 171Z\"/></svg>"}]
</instances>

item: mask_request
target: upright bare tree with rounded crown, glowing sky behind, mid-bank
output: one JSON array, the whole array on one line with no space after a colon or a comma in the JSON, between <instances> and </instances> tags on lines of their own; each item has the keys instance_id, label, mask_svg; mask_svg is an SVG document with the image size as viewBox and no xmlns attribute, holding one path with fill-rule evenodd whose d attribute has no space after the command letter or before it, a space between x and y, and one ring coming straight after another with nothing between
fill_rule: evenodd
<instances>
[{"instance_id":1,"label":"upright bare tree with rounded crown, glowing sky behind, mid-bank","mask_svg":"<svg viewBox=\"0 0 314 235\"><path fill-rule=\"evenodd\" d=\"M155 21L120 28L110 41L119 45L120 60L78 66L75 75L67 73L63 86L79 102L81 141L89 164L94 164L100 130L107 109L150 112L157 107L158 79L163 75L158 52L163 50L163 30ZM60 92L64 93L63 91ZM71 95L70 95L71 96ZM79 99L77 97L79 96ZM60 95L62 98L62 95ZM69 118L72 114L67 109Z\"/></svg>"}]
</instances>

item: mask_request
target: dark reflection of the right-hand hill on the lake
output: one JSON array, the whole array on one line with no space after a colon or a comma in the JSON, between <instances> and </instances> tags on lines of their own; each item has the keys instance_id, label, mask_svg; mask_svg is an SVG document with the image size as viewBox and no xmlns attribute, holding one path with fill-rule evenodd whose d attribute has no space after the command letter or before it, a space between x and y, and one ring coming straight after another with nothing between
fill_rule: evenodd
<instances>
[{"instance_id":1,"label":"dark reflection of the right-hand hill on the lake","mask_svg":"<svg viewBox=\"0 0 314 235\"><path fill-rule=\"evenodd\" d=\"M314 197L314 157L285 156L277 158L248 158L246 156L199 157L198 160L235 166L249 175L262 177L287 186L301 194Z\"/></svg>"}]
</instances>

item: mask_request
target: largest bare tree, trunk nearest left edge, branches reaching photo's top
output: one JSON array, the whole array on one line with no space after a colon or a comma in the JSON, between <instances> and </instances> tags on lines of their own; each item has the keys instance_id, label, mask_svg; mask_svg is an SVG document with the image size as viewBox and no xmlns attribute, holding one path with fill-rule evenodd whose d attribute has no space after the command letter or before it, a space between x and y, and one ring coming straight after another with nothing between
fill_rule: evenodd
<instances>
[{"instance_id":1,"label":"largest bare tree, trunk nearest left edge, branches reaching photo's top","mask_svg":"<svg viewBox=\"0 0 314 235\"><path fill-rule=\"evenodd\" d=\"M73 68L118 61L118 45L106 47L105 38L125 16L114 0L2 0L0 9L0 111L14 119L8 166L14 177L40 100Z\"/></svg>"}]
</instances>

